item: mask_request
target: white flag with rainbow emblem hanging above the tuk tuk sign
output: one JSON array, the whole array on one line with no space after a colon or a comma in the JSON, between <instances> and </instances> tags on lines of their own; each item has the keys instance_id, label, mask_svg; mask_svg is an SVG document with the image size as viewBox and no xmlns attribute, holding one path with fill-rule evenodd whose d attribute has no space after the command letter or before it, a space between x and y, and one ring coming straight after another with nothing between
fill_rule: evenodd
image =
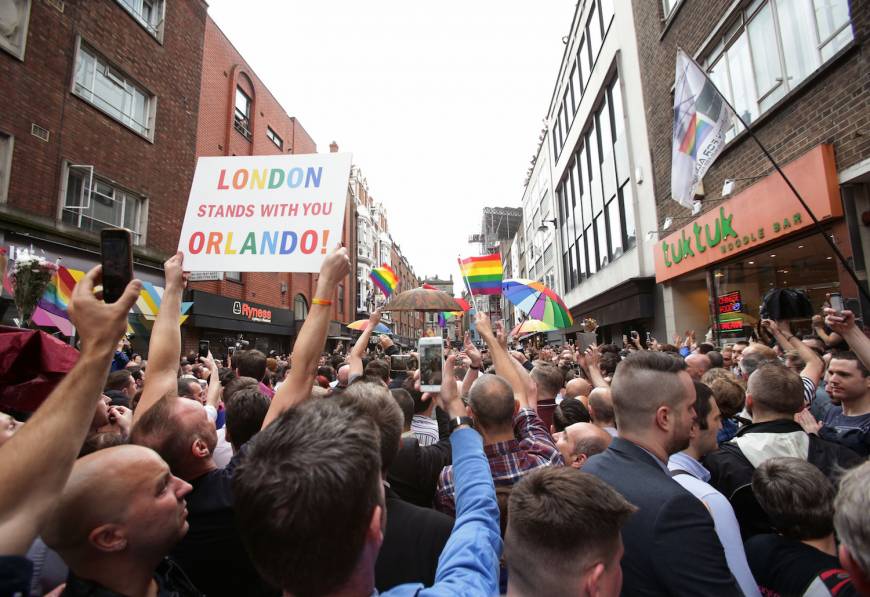
<instances>
[{"instance_id":1,"label":"white flag with rainbow emblem hanging above the tuk tuk sign","mask_svg":"<svg viewBox=\"0 0 870 597\"><path fill-rule=\"evenodd\" d=\"M695 186L725 146L734 112L713 82L683 50L677 50L671 196L691 208Z\"/></svg>"}]
</instances>

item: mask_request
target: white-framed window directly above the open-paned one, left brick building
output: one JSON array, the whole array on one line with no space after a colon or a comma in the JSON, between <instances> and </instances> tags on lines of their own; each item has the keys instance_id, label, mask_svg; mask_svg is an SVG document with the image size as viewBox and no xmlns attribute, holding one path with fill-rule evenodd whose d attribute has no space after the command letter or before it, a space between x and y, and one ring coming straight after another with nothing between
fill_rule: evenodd
<instances>
[{"instance_id":1,"label":"white-framed window directly above the open-paned one, left brick building","mask_svg":"<svg viewBox=\"0 0 870 597\"><path fill-rule=\"evenodd\" d=\"M140 135L153 138L154 96L84 43L76 54L73 92Z\"/></svg>"}]
</instances>

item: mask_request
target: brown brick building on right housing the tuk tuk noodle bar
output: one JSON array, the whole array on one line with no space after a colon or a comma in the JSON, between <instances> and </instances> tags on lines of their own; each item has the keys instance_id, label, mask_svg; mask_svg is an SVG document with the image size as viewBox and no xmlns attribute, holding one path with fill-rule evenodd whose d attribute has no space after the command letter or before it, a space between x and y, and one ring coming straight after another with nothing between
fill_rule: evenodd
<instances>
[{"instance_id":1,"label":"brown brick building on right housing the tuk tuk noodle bar","mask_svg":"<svg viewBox=\"0 0 870 597\"><path fill-rule=\"evenodd\" d=\"M856 300L833 251L742 127L726 135L696 190L699 214L672 201L669 191L681 47L750 122L866 280L870 5L661 0L632 7L635 22L648 24L637 35L658 209L656 319L666 324L663 337L686 329L703 336L711 327L723 340L745 336L761 297L775 287L805 290L816 309L826 293L840 291L866 320L870 305Z\"/></svg>"}]
</instances>

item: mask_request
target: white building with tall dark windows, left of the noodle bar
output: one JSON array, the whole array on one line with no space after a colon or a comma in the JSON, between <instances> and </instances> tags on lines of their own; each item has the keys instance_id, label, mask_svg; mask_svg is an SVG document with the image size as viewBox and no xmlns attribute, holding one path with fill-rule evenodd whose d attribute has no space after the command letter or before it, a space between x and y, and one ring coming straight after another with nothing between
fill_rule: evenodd
<instances>
[{"instance_id":1,"label":"white building with tall dark windows, left of the noodle bar","mask_svg":"<svg viewBox=\"0 0 870 597\"><path fill-rule=\"evenodd\" d=\"M603 341L620 342L654 328L655 241L646 231L656 229L655 197L631 0L580 0L566 39L523 198L526 238L555 218L555 246L547 225L526 262L530 278L552 276L571 309L569 337L593 317Z\"/></svg>"}]
</instances>

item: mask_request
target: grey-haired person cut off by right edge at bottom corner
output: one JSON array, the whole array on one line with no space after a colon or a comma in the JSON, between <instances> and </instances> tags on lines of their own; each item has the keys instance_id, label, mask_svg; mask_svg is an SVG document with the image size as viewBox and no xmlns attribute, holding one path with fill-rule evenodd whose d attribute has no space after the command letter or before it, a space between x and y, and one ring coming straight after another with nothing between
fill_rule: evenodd
<instances>
[{"instance_id":1,"label":"grey-haired person cut off by right edge at bottom corner","mask_svg":"<svg viewBox=\"0 0 870 597\"><path fill-rule=\"evenodd\" d=\"M870 462L855 467L840 481L834 500L834 528L840 538L840 563L862 595L870 595Z\"/></svg>"}]
</instances>

